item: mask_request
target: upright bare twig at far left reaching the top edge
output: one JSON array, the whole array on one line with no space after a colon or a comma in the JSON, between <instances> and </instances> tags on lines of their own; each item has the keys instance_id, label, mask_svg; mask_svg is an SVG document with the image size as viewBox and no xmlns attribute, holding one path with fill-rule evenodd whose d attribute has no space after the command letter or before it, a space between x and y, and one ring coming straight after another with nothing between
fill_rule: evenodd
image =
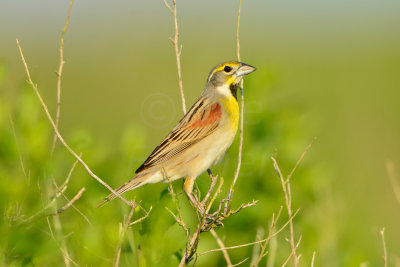
<instances>
[{"instance_id":1,"label":"upright bare twig at far left reaching the top edge","mask_svg":"<svg viewBox=\"0 0 400 267\"><path fill-rule=\"evenodd\" d=\"M61 33L61 40L60 40L60 65L58 66L58 71L57 71L57 112L56 112L56 128L57 129L58 129L58 122L60 121L60 108L61 108L61 76L62 76L64 64L65 64L65 61L64 61L64 36L65 36L65 32L68 29L69 18L71 17L71 10L72 10L73 3L74 3L74 0L71 0L71 2L69 3L67 21L65 22L64 29ZM51 155L53 155L54 149L56 147L56 142L57 142L57 135L54 134L53 145L51 147Z\"/></svg>"}]
</instances>

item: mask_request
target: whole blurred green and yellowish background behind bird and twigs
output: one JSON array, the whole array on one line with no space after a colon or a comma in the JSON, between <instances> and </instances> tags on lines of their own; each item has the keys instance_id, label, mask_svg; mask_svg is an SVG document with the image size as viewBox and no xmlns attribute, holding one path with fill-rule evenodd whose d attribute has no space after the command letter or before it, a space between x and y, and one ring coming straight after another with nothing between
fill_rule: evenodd
<instances>
[{"instance_id":1,"label":"whole blurred green and yellowish background behind bird and twigs","mask_svg":"<svg viewBox=\"0 0 400 267\"><path fill-rule=\"evenodd\" d=\"M5 266L62 265L61 240L78 265L111 265L119 223L128 213L120 201L94 208L108 192L77 166L65 193L72 198L87 189L76 207L91 224L72 208L59 216L62 234L55 239L45 217L21 224L46 206L52 180L60 185L74 159L60 144L50 157L53 133L26 83L15 38L55 114L55 71L68 5L67 0L0 2L0 259ZM215 64L236 58L237 5L178 1L188 105ZM276 155L288 174L317 137L292 180L293 208L301 209L294 220L296 238L302 236L301 266L310 265L314 251L316 266L382 266L383 227L389 266L400 266L400 210L385 167L392 161L400 179L399 14L400 2L388 0L243 1L242 60L258 70L245 80L245 149L234 205L260 202L217 229L227 246L254 241L284 205L270 157ZM64 45L60 131L113 187L132 177L182 116L172 35L172 17L161 0L76 0L73 6ZM238 139L213 169L225 178L223 194L236 168L237 147ZM206 175L198 179L202 190L208 184ZM173 207L166 187L149 185L126 194L153 211L128 231L121 265L177 265L185 235L165 210ZM181 181L174 187L180 191ZM180 199L194 227L193 211L184 196ZM60 198L58 206L65 203ZM286 214L280 224L285 220ZM286 237L287 231L278 235L269 266L280 266L289 255ZM212 236L204 234L199 251L215 247ZM252 253L252 247L229 251L233 262L250 257L244 266ZM221 253L211 253L196 264L225 262Z\"/></svg>"}]
</instances>

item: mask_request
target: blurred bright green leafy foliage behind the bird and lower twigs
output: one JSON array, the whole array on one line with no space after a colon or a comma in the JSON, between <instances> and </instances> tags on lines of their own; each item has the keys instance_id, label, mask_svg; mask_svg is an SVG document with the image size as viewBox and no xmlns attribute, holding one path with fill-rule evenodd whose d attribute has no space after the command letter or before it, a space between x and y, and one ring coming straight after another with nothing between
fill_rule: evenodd
<instances>
[{"instance_id":1,"label":"blurred bright green leafy foliage behind the bird and lower twigs","mask_svg":"<svg viewBox=\"0 0 400 267\"><path fill-rule=\"evenodd\" d=\"M266 92L273 94L278 78L269 73L258 77L249 81L246 87L253 88L263 84ZM289 144L283 146L286 155L282 156L285 159L282 160L284 169L288 169L294 165L303 145L308 141L300 134L291 134L291 129L299 123L295 111L288 112L279 107L271 109L266 108L269 105L255 104L251 99L260 97L257 91L249 91L248 94L246 92L246 97L249 99L247 107L250 111L246 115L246 149L234 206L253 199L259 199L260 202L256 207L232 216L225 227L219 230L221 235L226 236L227 244L253 241L257 229L266 228L272 213L277 212L283 204L280 182L270 161L277 144ZM68 201L61 196L51 202L55 193L53 181L58 186L64 182L74 159L60 144L57 145L54 155L50 156L53 133L30 87L22 86L19 89L13 105L3 104L0 106L0 209L4 211L0 228L2 262L6 265L59 265L63 261L61 247L64 240L70 257L78 264L110 265L118 243L119 224L124 215L126 216L128 207L115 200L103 208L95 209L94 206L107 194L107 190L78 165L72 173L65 195L71 199L80 188L86 188L75 206L90 223L76 209L69 208L59 215L62 228L57 232L53 216L46 215ZM119 141L114 144L114 154L107 153L106 145L95 144L91 134L85 130L74 129L66 139L75 151L83 153L83 159L96 174L106 181L115 179L112 181L115 185L128 179L148 153L145 145L150 141L147 136L141 125L128 125L117 138ZM293 147L297 150L293 150ZM280 153L279 151L278 158L281 158ZM215 168L214 172L223 176L226 181L221 197L228 191L230 177L233 177L236 168L236 157L237 144L228 152L220 166ZM303 177L302 183L306 188L310 186L307 183L311 183L307 182L310 171L311 166L303 166L301 170L300 177ZM296 179L301 181L299 177ZM206 191L208 180L206 175L199 178L198 185L202 192ZM182 192L181 181L175 182L174 188L177 192ZM313 192L310 189L308 196L305 194L305 199L301 200L302 203L313 203ZM174 210L167 185L149 185L126 195L142 200L143 207L149 209L152 206L153 210L149 218L128 230L122 244L121 264L132 266L140 260L142 266L176 266L184 252L186 237L165 209L168 207ZM178 199L185 221L193 230L197 220L194 210L182 193ZM53 204L49 206L49 203ZM134 219L141 216L143 212L140 209L135 210ZM284 219L282 223L283 221ZM246 231L243 231L244 228ZM313 229L310 228L309 232L312 232ZM303 234L307 235L308 231ZM215 240L204 235L199 250L205 251L214 247ZM282 245L282 248L282 251L288 251L286 245ZM230 254L234 261L239 261L251 253L252 248L248 247ZM281 252L278 256L285 257L286 254ZM224 260L221 254L213 253L199 258L198 264L218 266L224 264Z\"/></svg>"}]
</instances>

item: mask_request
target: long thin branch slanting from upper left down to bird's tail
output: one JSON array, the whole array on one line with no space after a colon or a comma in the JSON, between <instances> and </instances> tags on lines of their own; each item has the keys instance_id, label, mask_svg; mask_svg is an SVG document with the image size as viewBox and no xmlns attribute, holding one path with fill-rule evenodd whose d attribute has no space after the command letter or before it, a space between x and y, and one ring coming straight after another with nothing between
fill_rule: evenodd
<instances>
[{"instance_id":1,"label":"long thin branch slanting from upper left down to bird's tail","mask_svg":"<svg viewBox=\"0 0 400 267\"><path fill-rule=\"evenodd\" d=\"M36 96L38 97L40 104L42 105L46 116L48 118L48 120L50 121L51 125L53 126L53 130L56 133L58 139L60 140L60 142L64 145L64 147L79 161L80 164L82 164L82 166L86 169L86 171L89 173L89 175L96 179L100 184L102 184L104 187L106 187L108 190L110 190L113 194L116 195L116 197L118 197L119 199L121 199L125 204L132 206L133 204L131 203L131 201L126 200L124 197L122 197L118 192L116 192L111 186L109 186L106 182L104 182L101 178L99 178L96 174L93 173L93 171L89 168L89 166L81 159L81 157L78 156L78 154L76 154L76 152L67 144L67 142L65 142L64 138L61 136L60 132L57 129L57 126L54 122L54 120L52 119L49 109L46 105L46 103L44 102L42 96L39 93L39 90L37 88L37 85L33 83L30 72L29 72L29 68L28 65L25 61L25 57L24 54L22 53L22 48L21 45L19 44L18 39L16 39L17 41L17 47L19 50L19 53L21 55L21 60L22 63L24 64L25 67L25 72L27 74L28 77L28 83L29 85L32 87L32 89L35 91Z\"/></svg>"}]
</instances>

